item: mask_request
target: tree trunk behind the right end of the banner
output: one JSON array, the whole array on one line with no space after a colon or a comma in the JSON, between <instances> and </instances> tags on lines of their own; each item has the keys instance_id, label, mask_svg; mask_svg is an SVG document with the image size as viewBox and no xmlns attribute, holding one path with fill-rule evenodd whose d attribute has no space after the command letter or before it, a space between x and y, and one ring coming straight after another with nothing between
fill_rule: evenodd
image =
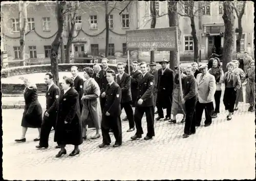
<instances>
[{"instance_id":1,"label":"tree trunk behind the right end of the banner","mask_svg":"<svg viewBox=\"0 0 256 181\"><path fill-rule=\"evenodd\" d=\"M168 16L169 16L169 27L178 27L178 39L180 45L180 27L179 27L179 17L177 10L177 2L168 1ZM177 65L177 51L170 51L170 69L174 70L174 67Z\"/></svg>"}]
</instances>

